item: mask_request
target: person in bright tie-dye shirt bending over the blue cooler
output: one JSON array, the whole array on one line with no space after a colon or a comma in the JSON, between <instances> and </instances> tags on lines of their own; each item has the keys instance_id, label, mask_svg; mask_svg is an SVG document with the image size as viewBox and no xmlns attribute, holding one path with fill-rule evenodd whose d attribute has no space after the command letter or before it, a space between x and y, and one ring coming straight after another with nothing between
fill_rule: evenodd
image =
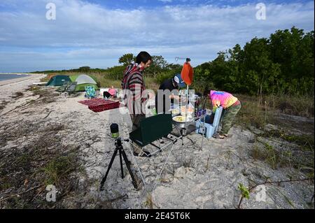
<instances>
[{"instance_id":1,"label":"person in bright tie-dye shirt bending over the blue cooler","mask_svg":"<svg viewBox=\"0 0 315 223\"><path fill-rule=\"evenodd\" d=\"M235 120L235 116L241 109L241 102L237 97L228 92L219 92L211 90L207 91L209 99L212 105L212 111L215 113L216 108L223 107L222 128L219 132L219 138L228 137L228 132L232 127L232 122Z\"/></svg>"}]
</instances>

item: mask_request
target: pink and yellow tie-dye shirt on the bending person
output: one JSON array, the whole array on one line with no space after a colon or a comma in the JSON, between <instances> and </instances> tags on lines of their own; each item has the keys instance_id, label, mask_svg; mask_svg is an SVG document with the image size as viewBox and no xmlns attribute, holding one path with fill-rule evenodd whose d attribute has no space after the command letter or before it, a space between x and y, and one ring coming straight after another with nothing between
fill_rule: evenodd
<instances>
[{"instance_id":1,"label":"pink and yellow tie-dye shirt on the bending person","mask_svg":"<svg viewBox=\"0 0 315 223\"><path fill-rule=\"evenodd\" d=\"M233 96L232 94L228 92L217 92L217 91L211 90L209 96L212 101L212 106L214 107L213 108L214 113L216 112L216 108L220 106L222 106L224 109L229 108L235 102L238 101L238 99L235 96Z\"/></svg>"}]
</instances>

